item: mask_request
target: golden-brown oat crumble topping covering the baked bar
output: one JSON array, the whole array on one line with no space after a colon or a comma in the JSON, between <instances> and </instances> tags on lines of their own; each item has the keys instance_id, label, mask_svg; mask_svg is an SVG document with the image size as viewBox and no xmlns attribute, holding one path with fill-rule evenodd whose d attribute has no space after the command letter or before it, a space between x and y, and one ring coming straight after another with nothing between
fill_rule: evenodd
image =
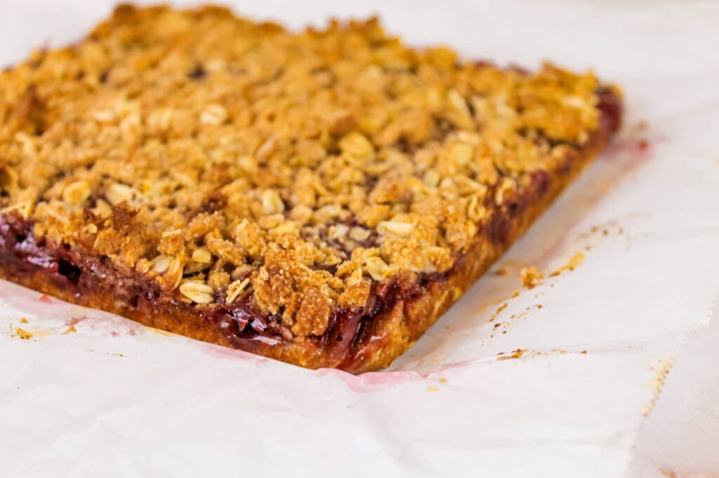
<instances>
[{"instance_id":1,"label":"golden-brown oat crumble topping covering the baked bar","mask_svg":"<svg viewBox=\"0 0 719 478\"><path fill-rule=\"evenodd\" d=\"M198 307L319 335L372 283L452 268L597 129L599 88L413 50L376 19L294 33L123 5L0 74L0 207Z\"/></svg>"}]
</instances>

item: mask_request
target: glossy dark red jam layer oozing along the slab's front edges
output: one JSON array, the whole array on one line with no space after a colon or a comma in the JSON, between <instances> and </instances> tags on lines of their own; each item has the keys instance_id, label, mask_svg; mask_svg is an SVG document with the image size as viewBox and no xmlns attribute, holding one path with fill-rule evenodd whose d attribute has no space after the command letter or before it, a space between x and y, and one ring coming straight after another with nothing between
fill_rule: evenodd
<instances>
[{"instance_id":1,"label":"glossy dark red jam layer oozing along the slab's front edges","mask_svg":"<svg viewBox=\"0 0 719 478\"><path fill-rule=\"evenodd\" d=\"M50 245L32 235L32 222L17 215L0 216L0 264L17 274L41 272L64 291L81 298L111 294L128 309L152 313L159 306L195 309L207 322L216 324L229 344L248 352L262 352L292 339L280 317L265 314L252 304L251 298L232 304L214 304L195 308L160 289L159 284L139 273L127 275L111 265L109 258L83 255L63 245ZM428 274L413 286L393 280L376 283L363 309L338 309L329 319L326 332L311 337L328 357L342 360L352 347L371 339L372 319L391 309L400 298L421 294L431 282L444 274Z\"/></svg>"}]
</instances>

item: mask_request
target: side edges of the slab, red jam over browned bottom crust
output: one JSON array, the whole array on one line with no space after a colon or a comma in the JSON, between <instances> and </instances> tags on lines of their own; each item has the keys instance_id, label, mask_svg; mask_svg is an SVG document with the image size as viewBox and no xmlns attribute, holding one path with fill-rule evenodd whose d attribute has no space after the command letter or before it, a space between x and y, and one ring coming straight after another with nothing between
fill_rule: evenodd
<instances>
[{"instance_id":1,"label":"side edges of the slab, red jam over browned bottom crust","mask_svg":"<svg viewBox=\"0 0 719 478\"><path fill-rule=\"evenodd\" d=\"M74 304L303 367L377 370L421 337L603 149L620 125L621 103L610 89L601 90L598 97L600 126L590 139L570 149L557 169L533 173L531 182L501 206L487 204L490 216L480 222L480 233L449 271L423 273L418 281L404 281L401 275L375 281L362 309L333 310L319 336L288 336L278 317L258 310L249 300L188 304L109 258L36 239L32 220L13 212L0 216L0 274Z\"/></svg>"}]
</instances>

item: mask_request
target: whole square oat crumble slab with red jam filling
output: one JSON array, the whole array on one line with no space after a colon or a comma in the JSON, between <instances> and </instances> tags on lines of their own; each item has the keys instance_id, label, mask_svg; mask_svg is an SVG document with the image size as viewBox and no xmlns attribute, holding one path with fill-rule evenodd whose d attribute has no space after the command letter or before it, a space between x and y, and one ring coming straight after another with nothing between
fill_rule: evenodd
<instances>
[{"instance_id":1,"label":"whole square oat crumble slab with red jam filling","mask_svg":"<svg viewBox=\"0 0 719 478\"><path fill-rule=\"evenodd\" d=\"M252 47L222 52L221 67L196 63L188 38L212 44L216 30L239 43L260 37L269 60L246 60ZM160 50L178 60L165 65ZM296 50L308 63L287 60L285 70L329 72L331 84L318 89L314 76L282 68L265 78ZM123 76L128 58L137 84ZM261 73L242 100L226 88L238 65ZM163 86L157 100L157 82L178 68L182 78L170 79L180 87ZM348 93L355 78L343 80L343 69L386 84ZM621 118L618 93L593 75L462 63L446 49L408 49L373 20L288 34L214 7L121 6L74 50L37 54L0 85L5 278L206 342L351 372L385 367L416 341ZM410 106L391 110L399 94ZM139 96L139 112L128 95ZM183 95L198 104L172 103ZM107 98L113 111L82 110ZM353 107L357 98L365 103ZM235 100L259 116L244 118ZM298 111L257 119L288 102ZM394 119L377 127L370 116L385 106ZM292 129L298 112L315 110L324 116L310 132ZM163 126L173 114L195 123ZM98 126L113 121L116 130ZM92 131L113 146L102 158ZM238 131L248 151L228 146ZM198 147L201 159L191 156ZM158 154L180 160L166 169Z\"/></svg>"}]
</instances>

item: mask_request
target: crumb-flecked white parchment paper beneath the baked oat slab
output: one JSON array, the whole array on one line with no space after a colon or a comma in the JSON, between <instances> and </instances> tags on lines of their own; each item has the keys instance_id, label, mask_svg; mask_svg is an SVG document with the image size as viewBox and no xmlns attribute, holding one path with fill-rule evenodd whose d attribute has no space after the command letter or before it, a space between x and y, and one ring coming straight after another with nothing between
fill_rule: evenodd
<instances>
[{"instance_id":1,"label":"crumb-flecked white parchment paper beneath the baked oat slab","mask_svg":"<svg viewBox=\"0 0 719 478\"><path fill-rule=\"evenodd\" d=\"M111 8L0 5L2 64L77 39ZM413 44L500 64L592 67L623 86L626 127L385 372L302 370L0 283L0 474L627 474L638 426L719 289L719 4L265 0L234 9L294 28L379 12ZM520 281L527 266L545 276L533 289Z\"/></svg>"}]
</instances>

